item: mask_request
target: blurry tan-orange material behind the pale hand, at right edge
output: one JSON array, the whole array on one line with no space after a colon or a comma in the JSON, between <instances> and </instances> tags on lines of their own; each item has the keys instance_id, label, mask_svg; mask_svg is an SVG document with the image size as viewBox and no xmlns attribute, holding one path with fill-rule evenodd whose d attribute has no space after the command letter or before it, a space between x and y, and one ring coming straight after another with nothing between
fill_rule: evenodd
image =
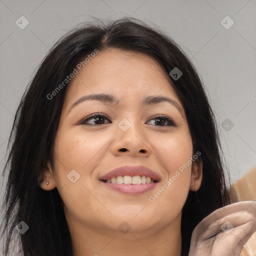
<instances>
[{"instance_id":1,"label":"blurry tan-orange material behind the pale hand, at right edge","mask_svg":"<svg viewBox=\"0 0 256 256\"><path fill-rule=\"evenodd\" d=\"M231 202L256 200L256 167L248 171L230 188ZM256 232L244 244L239 256L256 255Z\"/></svg>"}]
</instances>

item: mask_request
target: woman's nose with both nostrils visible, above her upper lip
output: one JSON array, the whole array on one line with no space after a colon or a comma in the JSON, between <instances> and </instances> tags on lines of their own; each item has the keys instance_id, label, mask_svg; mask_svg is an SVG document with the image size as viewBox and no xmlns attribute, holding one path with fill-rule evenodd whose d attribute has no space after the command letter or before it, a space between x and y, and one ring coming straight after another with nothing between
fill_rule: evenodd
<instances>
[{"instance_id":1,"label":"woman's nose with both nostrils visible, above her upper lip","mask_svg":"<svg viewBox=\"0 0 256 256\"><path fill-rule=\"evenodd\" d=\"M151 154L151 146L140 124L135 125L133 122L126 131L117 126L111 152L116 156L148 157Z\"/></svg>"}]
</instances>

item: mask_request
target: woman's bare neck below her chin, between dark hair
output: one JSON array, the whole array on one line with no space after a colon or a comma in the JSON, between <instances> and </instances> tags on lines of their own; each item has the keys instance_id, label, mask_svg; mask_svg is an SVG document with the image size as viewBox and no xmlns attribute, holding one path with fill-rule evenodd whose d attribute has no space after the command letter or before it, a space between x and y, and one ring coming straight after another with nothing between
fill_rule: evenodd
<instances>
[{"instance_id":1,"label":"woman's bare neck below her chin, between dark hair","mask_svg":"<svg viewBox=\"0 0 256 256\"><path fill-rule=\"evenodd\" d=\"M181 254L181 214L169 225L141 232L95 230L74 219L68 220L73 256L177 256Z\"/></svg>"}]
</instances>

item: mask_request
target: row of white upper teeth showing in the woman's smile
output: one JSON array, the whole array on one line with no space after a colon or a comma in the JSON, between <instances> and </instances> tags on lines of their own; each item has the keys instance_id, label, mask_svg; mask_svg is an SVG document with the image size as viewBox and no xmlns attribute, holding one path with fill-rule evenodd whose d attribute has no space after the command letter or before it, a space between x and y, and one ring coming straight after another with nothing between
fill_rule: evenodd
<instances>
[{"instance_id":1,"label":"row of white upper teeth showing in the woman's smile","mask_svg":"<svg viewBox=\"0 0 256 256\"><path fill-rule=\"evenodd\" d=\"M139 184L150 184L158 182L157 180L154 180L147 176L130 176L130 175L124 175L124 176L117 176L112 177L108 179L101 180L106 183L115 183L115 184L131 184L131 185L139 185Z\"/></svg>"}]
</instances>

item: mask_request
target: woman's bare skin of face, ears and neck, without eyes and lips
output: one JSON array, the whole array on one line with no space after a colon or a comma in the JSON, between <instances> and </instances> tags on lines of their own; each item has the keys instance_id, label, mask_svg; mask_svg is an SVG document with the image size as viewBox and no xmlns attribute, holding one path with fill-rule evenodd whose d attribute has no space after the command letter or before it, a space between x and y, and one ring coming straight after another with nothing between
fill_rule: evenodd
<instances>
[{"instance_id":1,"label":"woman's bare skin of face, ears and neck, without eyes and lips","mask_svg":"<svg viewBox=\"0 0 256 256\"><path fill-rule=\"evenodd\" d=\"M69 111L79 97L96 93L114 95L119 105L87 100ZM140 105L148 95L168 96L181 112L168 102ZM87 121L91 125L77 125L96 112L107 116L100 122L104 124L97 124L94 116ZM162 126L162 119L155 119L159 114L170 117L176 126L167 120ZM123 118L131 123L127 131L118 126ZM53 154L53 165L48 162L45 170L49 183L43 182L41 188L57 187L60 193L74 256L180 255L181 209L189 189L200 187L202 162L194 161L155 201L149 201L193 156L183 106L153 58L119 49L97 53L68 85ZM146 166L161 180L140 195L122 194L99 180L126 164ZM67 178L72 169L80 175L74 183ZM130 226L127 233L118 228L123 221Z\"/></svg>"}]
</instances>

